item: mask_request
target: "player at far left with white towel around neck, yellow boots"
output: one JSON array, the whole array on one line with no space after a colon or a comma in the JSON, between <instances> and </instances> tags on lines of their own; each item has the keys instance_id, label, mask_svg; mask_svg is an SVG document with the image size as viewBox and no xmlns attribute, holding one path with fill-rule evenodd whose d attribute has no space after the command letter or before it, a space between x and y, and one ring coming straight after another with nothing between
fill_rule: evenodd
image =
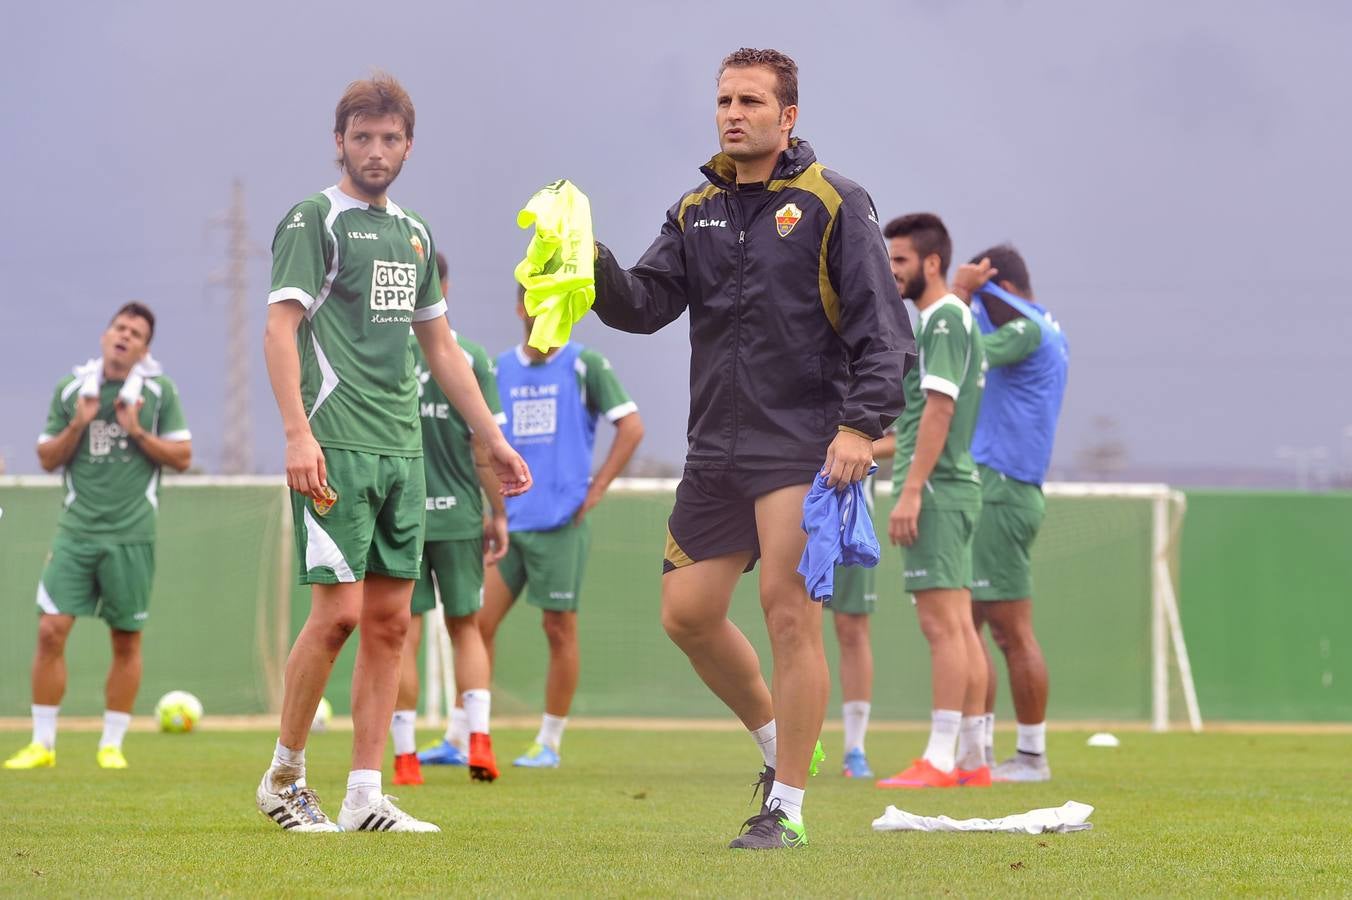
<instances>
[{"instance_id":1,"label":"player at far left with white towel around neck, yellow boots","mask_svg":"<svg viewBox=\"0 0 1352 900\"><path fill-rule=\"evenodd\" d=\"M100 339L101 357L57 382L38 461L62 469L66 496L38 581L32 742L5 769L57 765L57 709L66 692L66 638L76 616L112 632L99 765L126 769L122 738L141 686L141 630L150 615L160 470L192 462L178 391L150 358L155 318L128 303Z\"/></svg>"}]
</instances>

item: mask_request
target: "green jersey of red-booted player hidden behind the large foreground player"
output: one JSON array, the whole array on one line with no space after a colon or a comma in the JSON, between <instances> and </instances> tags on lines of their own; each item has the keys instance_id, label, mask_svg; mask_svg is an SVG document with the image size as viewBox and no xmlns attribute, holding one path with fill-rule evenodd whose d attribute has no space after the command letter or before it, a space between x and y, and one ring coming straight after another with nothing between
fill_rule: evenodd
<instances>
[{"instance_id":1,"label":"green jersey of red-booted player hidden behind the large foreground player","mask_svg":"<svg viewBox=\"0 0 1352 900\"><path fill-rule=\"evenodd\" d=\"M461 334L456 342L465 362L475 372L479 392L499 426L507 423L498 399L498 376L493 361L483 346ZM426 541L465 541L484 530L484 497L479 489L475 457L469 449L469 424L456 412L441 385L427 369L418 338L408 338L418 377L418 415L422 419L423 472L427 474Z\"/></svg>"}]
</instances>

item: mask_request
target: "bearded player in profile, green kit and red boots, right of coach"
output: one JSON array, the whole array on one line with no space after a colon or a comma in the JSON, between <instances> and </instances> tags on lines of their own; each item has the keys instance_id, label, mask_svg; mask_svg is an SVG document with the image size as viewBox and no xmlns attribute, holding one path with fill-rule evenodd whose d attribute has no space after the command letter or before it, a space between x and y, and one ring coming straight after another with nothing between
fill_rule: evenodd
<instances>
[{"instance_id":1,"label":"bearded player in profile, green kit and red boots, right of coach","mask_svg":"<svg viewBox=\"0 0 1352 900\"><path fill-rule=\"evenodd\" d=\"M972 626L972 538L982 482L972 430L986 355L972 311L948 288L953 243L938 216L921 212L883 228L892 277L915 304L919 365L906 373L906 411L896 420L896 465L888 518L906 547L906 591L915 597L930 646L932 726L925 754L883 788L984 786L986 658ZM956 750L955 750L956 745Z\"/></svg>"}]
</instances>

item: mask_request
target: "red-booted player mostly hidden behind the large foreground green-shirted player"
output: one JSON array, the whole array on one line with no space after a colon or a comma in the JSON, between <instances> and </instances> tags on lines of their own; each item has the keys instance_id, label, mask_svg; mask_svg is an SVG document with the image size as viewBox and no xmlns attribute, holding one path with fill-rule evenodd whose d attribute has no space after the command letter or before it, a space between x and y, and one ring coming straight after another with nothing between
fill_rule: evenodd
<instances>
[{"instance_id":1,"label":"red-booted player mostly hidden behind the large foreground green-shirted player","mask_svg":"<svg viewBox=\"0 0 1352 900\"><path fill-rule=\"evenodd\" d=\"M441 273L441 293L449 296L449 266L439 253L437 270ZM498 424L504 424L507 416L498 397L492 358L481 345L462 334L456 334L456 343L475 372L484 403ZM418 374L427 527L422 577L414 586L412 623L404 639L399 697L389 724L389 736L395 742L395 784L422 784L422 762L468 765L470 778L492 781L498 777L498 761L488 735L492 696L488 691L488 647L479 631L479 611L484 605L484 569L496 565L507 553L507 509L483 445L433 381L418 341L410 338L408 349ZM488 518L484 518L480 488L488 497ZM418 642L422 639L423 616L435 611L438 595L450 634L456 707L446 736L416 753Z\"/></svg>"}]
</instances>

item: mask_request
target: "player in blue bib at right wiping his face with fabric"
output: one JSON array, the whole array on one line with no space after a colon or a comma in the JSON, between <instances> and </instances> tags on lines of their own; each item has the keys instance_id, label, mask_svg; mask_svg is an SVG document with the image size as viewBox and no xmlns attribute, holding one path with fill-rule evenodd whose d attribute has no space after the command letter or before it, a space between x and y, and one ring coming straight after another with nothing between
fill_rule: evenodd
<instances>
[{"instance_id":1,"label":"player in blue bib at right wiping his face with fabric","mask_svg":"<svg viewBox=\"0 0 1352 900\"><path fill-rule=\"evenodd\" d=\"M1046 514L1042 481L1052 462L1069 350L1060 323L1033 299L1028 264L1013 246L976 254L959 269L953 292L972 297L990 364L972 438L972 458L982 477L982 519L972 546L972 614L977 632L988 623L1005 654L1018 720L1017 750L991 777L1048 781L1048 677L1033 634L1032 553ZM995 664L984 641L982 649L988 680L986 754L994 764Z\"/></svg>"}]
</instances>

